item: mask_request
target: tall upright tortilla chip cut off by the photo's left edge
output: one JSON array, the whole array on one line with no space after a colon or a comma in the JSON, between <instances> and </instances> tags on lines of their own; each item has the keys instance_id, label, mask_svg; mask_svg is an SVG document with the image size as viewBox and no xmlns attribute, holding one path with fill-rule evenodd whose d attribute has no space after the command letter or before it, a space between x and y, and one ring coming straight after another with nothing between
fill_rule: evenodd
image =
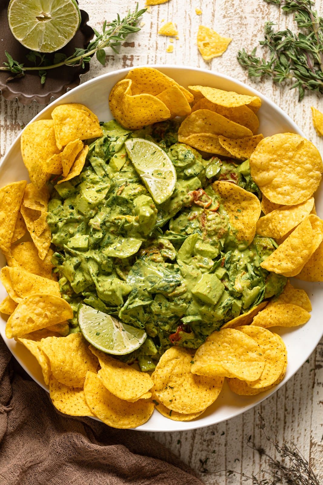
<instances>
[{"instance_id":1,"label":"tall upright tortilla chip cut off by the photo's left edge","mask_svg":"<svg viewBox=\"0 0 323 485\"><path fill-rule=\"evenodd\" d=\"M21 180L0 189L0 249L4 253L10 249L26 185L26 180Z\"/></svg>"}]
</instances>

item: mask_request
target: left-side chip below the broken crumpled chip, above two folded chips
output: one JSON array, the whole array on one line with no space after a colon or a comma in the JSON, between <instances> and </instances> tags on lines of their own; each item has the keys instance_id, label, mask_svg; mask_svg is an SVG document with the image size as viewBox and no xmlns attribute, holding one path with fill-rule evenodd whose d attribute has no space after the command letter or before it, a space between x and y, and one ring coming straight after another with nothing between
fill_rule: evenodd
<instances>
[{"instance_id":1,"label":"left-side chip below the broken crumpled chip, above two folded chips","mask_svg":"<svg viewBox=\"0 0 323 485\"><path fill-rule=\"evenodd\" d=\"M53 254L54 251L49 248L46 257L42 260L39 258L37 248L33 242L18 242L11 246L12 258L11 264L8 264L8 266L21 268L34 275L57 281L56 274L52 273L54 266L51 263L51 258Z\"/></svg>"}]
</instances>

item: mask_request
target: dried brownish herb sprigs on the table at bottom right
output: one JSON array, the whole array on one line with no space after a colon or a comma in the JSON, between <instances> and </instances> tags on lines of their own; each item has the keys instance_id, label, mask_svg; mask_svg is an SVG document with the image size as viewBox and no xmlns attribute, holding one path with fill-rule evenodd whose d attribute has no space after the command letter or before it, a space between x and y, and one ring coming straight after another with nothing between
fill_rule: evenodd
<instances>
[{"instance_id":1,"label":"dried brownish herb sprigs on the table at bottom right","mask_svg":"<svg viewBox=\"0 0 323 485\"><path fill-rule=\"evenodd\" d=\"M247 444L250 448L256 450L260 456L267 457L268 469L261 469L258 473L252 474L251 476L234 470L209 472L208 469L204 468L200 471L202 473L221 473L225 471L227 476L238 474L241 475L244 482L249 482L251 485L320 485L313 469L299 451L297 445L291 440L285 441L282 445L279 445L267 436L264 431L265 422L261 414L259 414L259 420L259 428L262 430L267 441L274 446L279 458L273 458L263 448L256 446L252 441L251 436L249 436ZM207 459L203 462L200 460L201 465L204 465L206 461Z\"/></svg>"}]
</instances>

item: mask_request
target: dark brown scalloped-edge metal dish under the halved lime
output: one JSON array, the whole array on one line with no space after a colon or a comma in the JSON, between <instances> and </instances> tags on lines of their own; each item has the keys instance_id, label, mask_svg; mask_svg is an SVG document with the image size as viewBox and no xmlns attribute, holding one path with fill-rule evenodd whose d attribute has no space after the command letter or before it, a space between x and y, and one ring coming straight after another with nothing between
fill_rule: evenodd
<instances>
[{"instance_id":1,"label":"dark brown scalloped-edge metal dish under the halved lime","mask_svg":"<svg viewBox=\"0 0 323 485\"><path fill-rule=\"evenodd\" d=\"M20 63L32 65L26 60L28 49L23 47L10 32L7 20L7 8L9 0L0 5L0 32L1 32L1 52L0 65L7 59L5 50ZM73 39L59 52L71 55L76 47L85 48L92 39L94 32L92 27L87 25L88 14L81 10L81 24ZM84 68L81 66L68 67L62 66L58 69L48 70L45 84L41 84L38 71L29 71L23 78L8 81L11 73L0 71L0 92L7 100L17 98L21 104L28 105L32 101L39 104L48 104L52 98L58 98L66 93L67 89L72 89L80 83L80 76L90 69L90 64Z\"/></svg>"}]
</instances>

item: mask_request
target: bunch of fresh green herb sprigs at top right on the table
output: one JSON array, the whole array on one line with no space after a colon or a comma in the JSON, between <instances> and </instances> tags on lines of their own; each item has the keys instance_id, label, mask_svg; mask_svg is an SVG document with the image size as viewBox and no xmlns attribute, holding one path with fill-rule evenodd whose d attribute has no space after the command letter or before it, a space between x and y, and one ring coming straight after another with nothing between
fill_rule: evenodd
<instances>
[{"instance_id":1,"label":"bunch of fresh green herb sprigs at top right on the table","mask_svg":"<svg viewBox=\"0 0 323 485\"><path fill-rule=\"evenodd\" d=\"M250 54L239 50L238 62L248 70L249 77L270 76L274 82L290 81L297 88L299 101L306 91L323 94L323 18L312 9L312 0L265 0L277 4L286 13L293 13L298 32L273 29L266 22L264 40L267 58L257 57L257 48Z\"/></svg>"}]
</instances>

